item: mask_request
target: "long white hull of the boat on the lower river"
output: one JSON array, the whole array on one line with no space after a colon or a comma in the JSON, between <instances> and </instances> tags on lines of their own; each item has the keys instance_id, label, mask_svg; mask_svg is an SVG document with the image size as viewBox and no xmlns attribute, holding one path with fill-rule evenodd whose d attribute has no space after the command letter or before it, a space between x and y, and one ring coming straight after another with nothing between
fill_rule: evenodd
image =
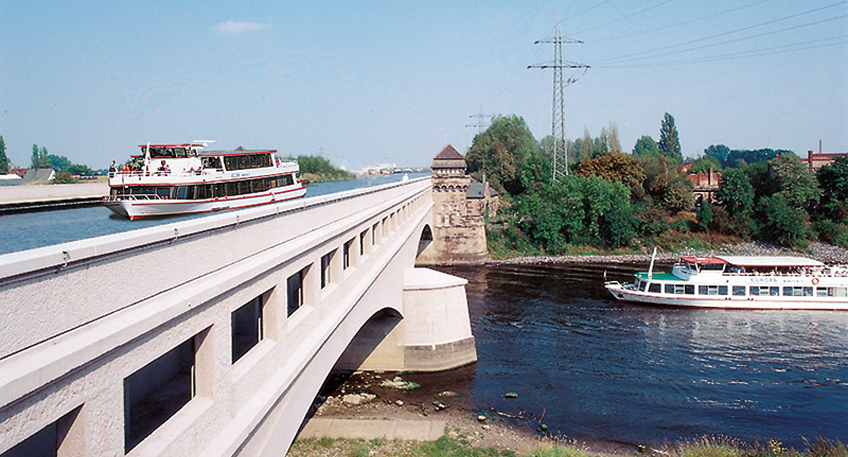
<instances>
[{"instance_id":1,"label":"long white hull of the boat on the lower river","mask_svg":"<svg viewBox=\"0 0 848 457\"><path fill-rule=\"evenodd\" d=\"M733 295L704 296L694 294L669 295L641 291L615 281L605 283L604 287L617 300L661 306L719 309L848 311L848 298L845 297L786 297L768 295L735 297Z\"/></svg>"}]
</instances>

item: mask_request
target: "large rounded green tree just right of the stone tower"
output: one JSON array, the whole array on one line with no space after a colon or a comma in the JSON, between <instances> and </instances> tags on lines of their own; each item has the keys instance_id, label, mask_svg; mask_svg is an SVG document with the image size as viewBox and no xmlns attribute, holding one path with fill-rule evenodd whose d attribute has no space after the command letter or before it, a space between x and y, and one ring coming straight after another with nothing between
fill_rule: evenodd
<instances>
[{"instance_id":1,"label":"large rounded green tree just right of the stone tower","mask_svg":"<svg viewBox=\"0 0 848 457\"><path fill-rule=\"evenodd\" d=\"M465 162L468 172L478 178L485 162L489 184L511 196L550 176L550 159L542 154L524 119L516 115L495 116L489 128L474 137Z\"/></svg>"}]
</instances>

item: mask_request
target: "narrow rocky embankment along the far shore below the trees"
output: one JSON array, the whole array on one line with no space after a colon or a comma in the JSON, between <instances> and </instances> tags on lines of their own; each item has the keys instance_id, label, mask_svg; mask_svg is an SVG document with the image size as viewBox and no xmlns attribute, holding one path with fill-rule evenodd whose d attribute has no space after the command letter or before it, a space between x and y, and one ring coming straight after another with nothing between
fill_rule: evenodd
<instances>
[{"instance_id":1,"label":"narrow rocky embankment along the far shore below the trees","mask_svg":"<svg viewBox=\"0 0 848 457\"><path fill-rule=\"evenodd\" d=\"M740 256L796 256L810 257L826 264L848 264L848 249L833 246L827 243L810 243L809 252L797 252L787 248L781 248L768 243L752 241L726 246L715 250L684 249L680 252L657 251L657 262L672 263L681 255L740 255ZM490 260L488 265L511 265L511 264L554 264L554 263L639 263L649 262L651 254L626 254L626 255L569 255L554 257L515 257L512 259Z\"/></svg>"}]
</instances>

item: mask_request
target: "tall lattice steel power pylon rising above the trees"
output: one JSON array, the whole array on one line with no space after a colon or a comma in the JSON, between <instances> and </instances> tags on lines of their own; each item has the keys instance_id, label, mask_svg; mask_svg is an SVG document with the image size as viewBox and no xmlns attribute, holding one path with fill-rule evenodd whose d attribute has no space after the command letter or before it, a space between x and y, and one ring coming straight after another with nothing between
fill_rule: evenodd
<instances>
[{"instance_id":1,"label":"tall lattice steel power pylon rising above the trees","mask_svg":"<svg viewBox=\"0 0 848 457\"><path fill-rule=\"evenodd\" d=\"M577 81L576 78L568 78L563 80L563 68L584 68L584 73L589 69L588 65L563 61L562 60L562 44L583 43L580 40L563 38L557 22L556 35L553 38L545 40L537 40L533 44L553 43L554 45L554 60L552 62L530 65L527 68L553 68L554 69L554 96L553 109L551 110L551 136L553 137L553 146L551 151L551 178L556 181L558 175L568 176L568 151L565 143L565 101L563 99L563 88L565 84L571 84ZM562 149L560 151L560 148ZM558 156L562 155L561 160Z\"/></svg>"}]
</instances>

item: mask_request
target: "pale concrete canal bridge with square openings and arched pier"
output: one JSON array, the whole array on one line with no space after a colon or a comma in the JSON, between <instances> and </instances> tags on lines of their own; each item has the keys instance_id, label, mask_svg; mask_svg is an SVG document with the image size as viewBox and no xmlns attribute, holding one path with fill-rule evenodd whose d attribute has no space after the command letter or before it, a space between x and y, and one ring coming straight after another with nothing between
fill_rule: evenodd
<instances>
[{"instance_id":1,"label":"pale concrete canal bridge with square openings and arched pier","mask_svg":"<svg viewBox=\"0 0 848 457\"><path fill-rule=\"evenodd\" d=\"M430 178L0 256L0 456L284 455L333 367L476 360Z\"/></svg>"}]
</instances>

